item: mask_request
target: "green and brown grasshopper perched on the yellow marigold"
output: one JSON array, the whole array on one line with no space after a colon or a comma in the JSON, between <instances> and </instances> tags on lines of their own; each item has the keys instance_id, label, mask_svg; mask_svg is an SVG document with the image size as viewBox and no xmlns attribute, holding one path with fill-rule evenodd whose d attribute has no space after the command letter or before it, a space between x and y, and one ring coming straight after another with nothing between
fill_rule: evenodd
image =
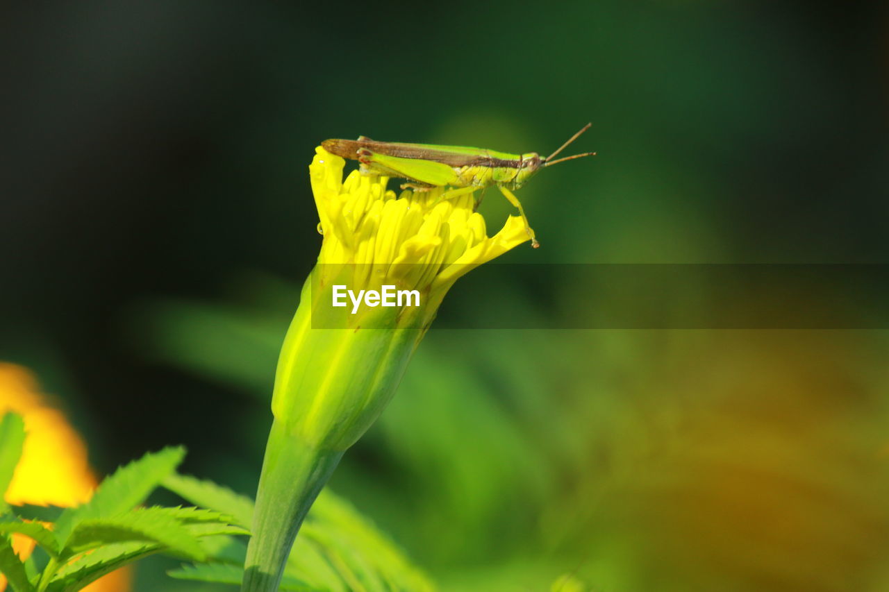
<instances>
[{"instance_id":1,"label":"green and brown grasshopper perched on the yellow marigold","mask_svg":"<svg viewBox=\"0 0 889 592\"><path fill-rule=\"evenodd\" d=\"M534 173L545 166L563 163L566 160L593 156L595 152L585 152L553 160L562 150L589 130L586 124L561 147L546 158L536 152L509 154L486 148L463 146L436 146L434 144L404 144L401 142L380 142L364 136L357 140L324 140L321 145L331 154L357 160L364 174L385 175L406 179L401 188L415 191L428 191L431 188L450 186L442 199L463 196L479 188L496 185L504 197L513 204L522 221L525 231L531 237L531 245L540 246L534 231L528 224L525 208L511 191L525 185Z\"/></svg>"}]
</instances>

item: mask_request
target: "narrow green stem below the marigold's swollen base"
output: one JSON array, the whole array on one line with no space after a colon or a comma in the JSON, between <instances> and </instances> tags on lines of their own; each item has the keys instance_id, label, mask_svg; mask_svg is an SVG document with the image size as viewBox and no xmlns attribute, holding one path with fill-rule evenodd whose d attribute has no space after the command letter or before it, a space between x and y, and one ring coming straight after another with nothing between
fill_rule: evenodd
<instances>
[{"instance_id":1,"label":"narrow green stem below the marigold's swollen base","mask_svg":"<svg viewBox=\"0 0 889 592\"><path fill-rule=\"evenodd\" d=\"M276 592L300 524L342 457L287 433L275 420L268 434L247 547L242 592Z\"/></svg>"}]
</instances>

